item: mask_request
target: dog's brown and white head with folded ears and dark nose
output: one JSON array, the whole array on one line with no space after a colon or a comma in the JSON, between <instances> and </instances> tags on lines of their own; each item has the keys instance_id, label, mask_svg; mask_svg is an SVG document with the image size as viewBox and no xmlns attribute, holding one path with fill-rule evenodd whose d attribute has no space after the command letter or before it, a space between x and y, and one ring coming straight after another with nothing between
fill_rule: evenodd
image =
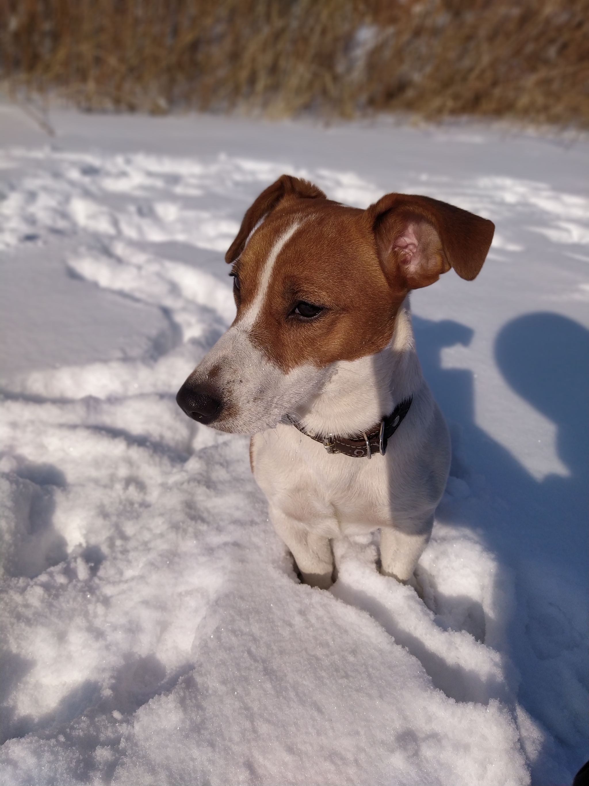
<instances>
[{"instance_id":1,"label":"dog's brown and white head with folded ears and dark nose","mask_svg":"<svg viewBox=\"0 0 589 786\"><path fill-rule=\"evenodd\" d=\"M338 361L386 347L409 290L451 267L476 277L493 231L427 196L346 208L284 174L251 205L225 255L237 315L178 404L221 431L273 428L316 397Z\"/></svg>"}]
</instances>

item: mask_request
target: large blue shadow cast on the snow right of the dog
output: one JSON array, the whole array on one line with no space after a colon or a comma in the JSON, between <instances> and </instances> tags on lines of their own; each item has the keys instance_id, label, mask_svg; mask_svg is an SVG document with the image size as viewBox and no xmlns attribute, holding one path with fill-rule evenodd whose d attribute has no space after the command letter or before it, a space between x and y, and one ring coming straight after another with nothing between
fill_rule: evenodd
<instances>
[{"instance_id":1,"label":"large blue shadow cast on the snow right of the dog","mask_svg":"<svg viewBox=\"0 0 589 786\"><path fill-rule=\"evenodd\" d=\"M504 379L558 429L556 449L569 474L539 481L475 423L473 374L441 366L441 350L468 345L473 331L415 315L413 324L424 375L452 432L450 474L473 485L481 501L441 505L437 520L477 529L500 563L514 570L519 630L513 630L510 645L521 672L518 700L565 743L566 766L574 773L589 752L586 709L582 696L575 698L577 689L566 684L562 666L564 657L565 670L582 685L587 631L578 622L580 609L571 605L587 594L589 331L558 314L538 313L508 322L496 338ZM510 413L505 417L509 421ZM564 586L573 587L568 597ZM543 777L550 757L546 751L538 760Z\"/></svg>"}]
</instances>

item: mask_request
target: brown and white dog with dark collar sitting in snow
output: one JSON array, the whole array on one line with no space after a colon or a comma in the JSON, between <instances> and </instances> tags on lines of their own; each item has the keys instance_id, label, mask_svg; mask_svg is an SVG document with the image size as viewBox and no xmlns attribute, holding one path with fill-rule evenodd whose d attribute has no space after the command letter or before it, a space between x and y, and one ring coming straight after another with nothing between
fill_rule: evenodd
<instances>
[{"instance_id":1,"label":"brown and white dog with dark collar sitting in snow","mask_svg":"<svg viewBox=\"0 0 589 786\"><path fill-rule=\"evenodd\" d=\"M359 210L289 175L245 214L225 255L236 319L177 402L199 423L253 435L254 477L306 583L330 586L331 538L376 529L382 573L411 578L450 441L408 292L451 267L473 279L493 231L427 196L391 193Z\"/></svg>"}]
</instances>

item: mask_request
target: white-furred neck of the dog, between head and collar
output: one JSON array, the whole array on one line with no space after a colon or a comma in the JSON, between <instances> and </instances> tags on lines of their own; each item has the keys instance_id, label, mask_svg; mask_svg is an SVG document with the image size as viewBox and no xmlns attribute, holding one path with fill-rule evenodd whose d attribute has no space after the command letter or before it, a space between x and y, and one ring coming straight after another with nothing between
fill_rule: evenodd
<instances>
[{"instance_id":1,"label":"white-furred neck of the dog, between head and collar","mask_svg":"<svg viewBox=\"0 0 589 786\"><path fill-rule=\"evenodd\" d=\"M393 336L376 354L338 361L320 395L299 411L305 430L316 435L352 435L367 431L415 395L423 374L415 351L408 297L397 313Z\"/></svg>"}]
</instances>

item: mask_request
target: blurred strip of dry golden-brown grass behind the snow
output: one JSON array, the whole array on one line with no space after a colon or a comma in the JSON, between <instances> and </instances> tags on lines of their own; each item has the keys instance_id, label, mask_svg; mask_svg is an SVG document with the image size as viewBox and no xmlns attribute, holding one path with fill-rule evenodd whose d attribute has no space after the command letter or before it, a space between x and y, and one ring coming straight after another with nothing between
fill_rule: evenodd
<instances>
[{"instance_id":1,"label":"blurred strip of dry golden-brown grass behind the snow","mask_svg":"<svg viewBox=\"0 0 589 786\"><path fill-rule=\"evenodd\" d=\"M589 0L0 0L0 73L90 110L589 127Z\"/></svg>"}]
</instances>

